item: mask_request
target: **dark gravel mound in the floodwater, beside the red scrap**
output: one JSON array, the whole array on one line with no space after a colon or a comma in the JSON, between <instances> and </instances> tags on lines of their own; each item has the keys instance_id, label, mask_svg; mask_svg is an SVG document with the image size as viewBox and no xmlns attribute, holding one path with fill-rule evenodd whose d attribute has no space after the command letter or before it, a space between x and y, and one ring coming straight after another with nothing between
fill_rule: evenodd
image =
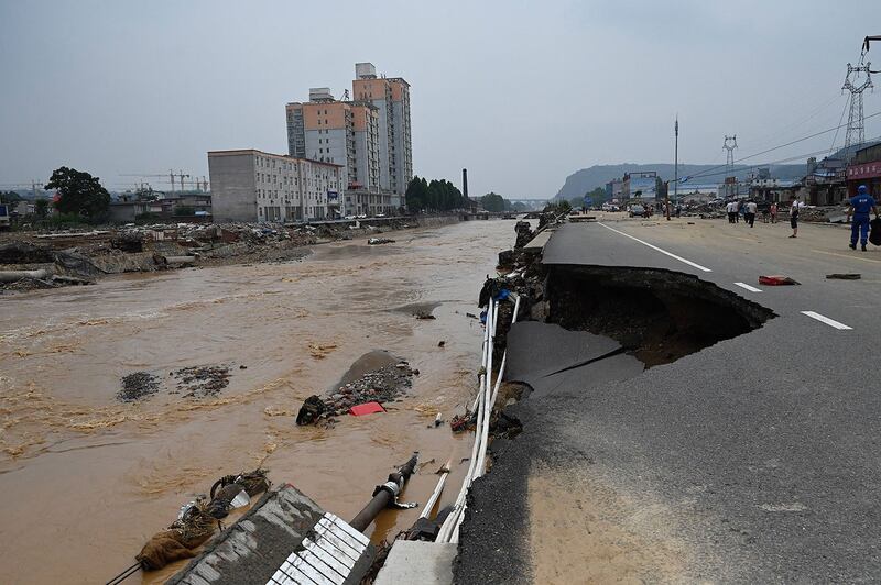
<instances>
[{"instance_id":1,"label":"dark gravel mound in the floodwater, beside the red scrap","mask_svg":"<svg viewBox=\"0 0 881 585\"><path fill-rule=\"evenodd\" d=\"M306 398L296 417L297 424L314 424L320 420L345 415L354 406L365 402L393 402L413 386L413 376L418 369L406 362L388 365L368 372L360 378L345 384L324 398L313 395Z\"/></svg>"}]
</instances>

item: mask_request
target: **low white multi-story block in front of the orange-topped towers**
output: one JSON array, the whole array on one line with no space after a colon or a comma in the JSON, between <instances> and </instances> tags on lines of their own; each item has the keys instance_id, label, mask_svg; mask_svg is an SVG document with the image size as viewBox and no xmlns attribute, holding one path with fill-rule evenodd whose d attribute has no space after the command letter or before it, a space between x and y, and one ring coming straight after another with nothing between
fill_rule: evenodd
<instances>
[{"instance_id":1,"label":"low white multi-story block in front of the orange-topped towers","mask_svg":"<svg viewBox=\"0 0 881 585\"><path fill-rule=\"evenodd\" d=\"M215 221L304 221L333 216L344 167L253 148L208 153Z\"/></svg>"}]
</instances>

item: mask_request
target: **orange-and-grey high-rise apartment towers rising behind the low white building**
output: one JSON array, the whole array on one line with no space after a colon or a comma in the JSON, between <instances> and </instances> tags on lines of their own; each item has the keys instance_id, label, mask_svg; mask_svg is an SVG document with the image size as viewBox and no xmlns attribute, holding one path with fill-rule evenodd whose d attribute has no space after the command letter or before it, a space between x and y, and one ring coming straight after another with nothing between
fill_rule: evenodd
<instances>
[{"instance_id":1,"label":"orange-and-grey high-rise apartment towers rising behind the low white building","mask_svg":"<svg viewBox=\"0 0 881 585\"><path fill-rule=\"evenodd\" d=\"M308 102L286 106L287 152L342 166L346 190L401 196L413 177L410 85L377 77L370 63L355 71L351 101L314 88Z\"/></svg>"}]
</instances>

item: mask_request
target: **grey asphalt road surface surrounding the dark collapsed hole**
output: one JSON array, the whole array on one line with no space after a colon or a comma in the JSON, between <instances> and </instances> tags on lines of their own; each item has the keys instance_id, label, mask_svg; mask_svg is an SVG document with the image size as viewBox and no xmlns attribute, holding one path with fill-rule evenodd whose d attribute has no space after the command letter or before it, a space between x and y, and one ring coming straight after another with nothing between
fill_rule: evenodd
<instances>
[{"instance_id":1,"label":"grey asphalt road surface surrounding the dark collapsed hole","mask_svg":"<svg viewBox=\"0 0 881 585\"><path fill-rule=\"evenodd\" d=\"M881 253L848 251L834 228L803 227L797 240L782 227L744 229L603 221L567 224L551 238L545 264L693 274L777 317L645 371L626 354L565 369L616 343L553 324L514 325L505 378L534 391L509 407L523 431L493 443L492 470L471 489L457 583L534 581L541 543L530 534L529 482L547 468L620 496L631 518L641 503L664 510L663 530L624 529L641 542L675 540L681 565L670 573L646 563L639 580L881 581ZM826 279L841 272L862 279ZM759 285L764 274L802 285Z\"/></svg>"}]
</instances>

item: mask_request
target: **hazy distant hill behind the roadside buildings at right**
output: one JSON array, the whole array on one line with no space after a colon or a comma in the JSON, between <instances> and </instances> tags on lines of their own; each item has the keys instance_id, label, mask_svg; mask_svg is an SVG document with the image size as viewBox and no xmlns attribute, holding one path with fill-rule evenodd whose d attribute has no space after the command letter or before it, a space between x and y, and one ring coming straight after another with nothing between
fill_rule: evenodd
<instances>
[{"instance_id":1,"label":"hazy distant hill behind the roadside buildings at right","mask_svg":"<svg viewBox=\"0 0 881 585\"><path fill-rule=\"evenodd\" d=\"M735 165L735 175L739 179L743 179L750 172L754 170L754 166ZM715 170L710 170L715 169ZM662 180L672 180L674 168L673 165L655 164L655 165L638 165L626 163L623 165L594 165L590 168L583 168L576 170L568 177L566 183L563 184L557 198L572 199L573 197L581 197L588 191L597 187L605 187L607 183L612 179L620 179L624 173L645 173L654 170ZM679 165L679 177L689 175L697 175L699 173L708 173L706 177L697 177L690 181L692 185L715 185L724 180L725 175L721 173L724 168L719 165ZM709 173L713 173L711 175ZM771 165L771 176L779 179L801 179L807 173L806 165ZM686 184L688 185L688 184Z\"/></svg>"}]
</instances>

